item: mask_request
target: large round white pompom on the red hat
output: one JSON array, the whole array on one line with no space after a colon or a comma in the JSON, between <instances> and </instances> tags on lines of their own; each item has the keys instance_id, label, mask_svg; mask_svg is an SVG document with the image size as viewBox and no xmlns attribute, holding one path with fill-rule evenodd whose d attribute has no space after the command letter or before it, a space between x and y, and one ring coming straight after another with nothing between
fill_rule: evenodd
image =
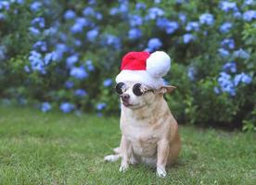
<instances>
[{"instance_id":1,"label":"large round white pompom on the red hat","mask_svg":"<svg viewBox=\"0 0 256 185\"><path fill-rule=\"evenodd\" d=\"M170 68L171 58L164 52L154 52L147 58L147 73L156 79L166 75Z\"/></svg>"}]
</instances>

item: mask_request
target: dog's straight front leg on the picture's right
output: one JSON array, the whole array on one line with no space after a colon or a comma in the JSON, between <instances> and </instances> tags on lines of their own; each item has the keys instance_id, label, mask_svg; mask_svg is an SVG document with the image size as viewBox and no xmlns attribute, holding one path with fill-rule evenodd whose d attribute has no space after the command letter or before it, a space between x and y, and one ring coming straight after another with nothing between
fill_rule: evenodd
<instances>
[{"instance_id":1,"label":"dog's straight front leg on the picture's right","mask_svg":"<svg viewBox=\"0 0 256 185\"><path fill-rule=\"evenodd\" d=\"M160 178L166 177L165 166L168 161L170 143L167 140L158 142L157 175Z\"/></svg>"}]
</instances>

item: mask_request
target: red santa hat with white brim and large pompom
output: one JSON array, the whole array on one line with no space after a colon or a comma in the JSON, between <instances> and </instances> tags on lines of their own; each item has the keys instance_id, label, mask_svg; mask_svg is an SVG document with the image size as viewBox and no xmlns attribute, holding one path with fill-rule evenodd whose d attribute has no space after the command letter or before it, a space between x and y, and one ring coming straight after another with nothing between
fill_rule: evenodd
<instances>
[{"instance_id":1,"label":"red santa hat with white brim and large pompom","mask_svg":"<svg viewBox=\"0 0 256 185\"><path fill-rule=\"evenodd\" d=\"M159 89L163 85L162 77L171 68L171 58L162 51L130 52L123 56L121 72L116 82L134 81L151 88Z\"/></svg>"}]
</instances>

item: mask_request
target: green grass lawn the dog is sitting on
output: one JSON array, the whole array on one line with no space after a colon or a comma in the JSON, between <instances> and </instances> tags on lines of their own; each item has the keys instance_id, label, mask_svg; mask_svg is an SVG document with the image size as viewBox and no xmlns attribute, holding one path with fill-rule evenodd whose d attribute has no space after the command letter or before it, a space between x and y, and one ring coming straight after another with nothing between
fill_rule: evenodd
<instances>
[{"instance_id":1,"label":"green grass lawn the dog is sitting on","mask_svg":"<svg viewBox=\"0 0 256 185\"><path fill-rule=\"evenodd\" d=\"M105 163L120 142L118 118L0 107L0 184L255 184L253 133L180 127L178 163L159 179L147 166Z\"/></svg>"}]
</instances>

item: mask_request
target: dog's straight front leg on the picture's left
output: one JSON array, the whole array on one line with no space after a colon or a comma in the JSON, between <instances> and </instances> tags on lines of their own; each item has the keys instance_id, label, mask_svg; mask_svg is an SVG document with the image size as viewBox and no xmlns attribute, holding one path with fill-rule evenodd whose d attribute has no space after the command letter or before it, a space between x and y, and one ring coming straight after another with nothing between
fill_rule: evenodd
<instances>
[{"instance_id":1,"label":"dog's straight front leg on the picture's left","mask_svg":"<svg viewBox=\"0 0 256 185\"><path fill-rule=\"evenodd\" d=\"M119 168L120 172L124 172L128 169L131 153L132 153L131 143L127 141L127 139L124 136L122 136L122 140L121 140L122 163Z\"/></svg>"}]
</instances>

